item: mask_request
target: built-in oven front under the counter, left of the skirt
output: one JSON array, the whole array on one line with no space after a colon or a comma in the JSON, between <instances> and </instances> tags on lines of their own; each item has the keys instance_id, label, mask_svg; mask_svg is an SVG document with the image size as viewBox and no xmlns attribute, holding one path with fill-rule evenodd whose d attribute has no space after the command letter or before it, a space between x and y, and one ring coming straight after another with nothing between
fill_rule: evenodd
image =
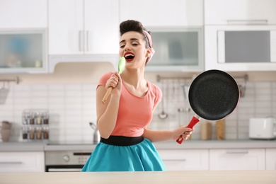
<instances>
[{"instance_id":1,"label":"built-in oven front under the counter, left of the skirt","mask_svg":"<svg viewBox=\"0 0 276 184\"><path fill-rule=\"evenodd\" d=\"M70 151L70 150L49 150L45 151L46 172L80 172L91 150Z\"/></svg>"}]
</instances>

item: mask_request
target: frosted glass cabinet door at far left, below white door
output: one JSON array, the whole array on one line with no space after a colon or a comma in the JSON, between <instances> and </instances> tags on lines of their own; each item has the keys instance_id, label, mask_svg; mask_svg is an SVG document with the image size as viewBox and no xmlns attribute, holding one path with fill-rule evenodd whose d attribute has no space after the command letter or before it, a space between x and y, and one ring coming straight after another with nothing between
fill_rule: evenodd
<instances>
[{"instance_id":1,"label":"frosted glass cabinet door at far left, below white door","mask_svg":"<svg viewBox=\"0 0 276 184\"><path fill-rule=\"evenodd\" d=\"M0 73L46 73L47 30L0 30Z\"/></svg>"}]
</instances>

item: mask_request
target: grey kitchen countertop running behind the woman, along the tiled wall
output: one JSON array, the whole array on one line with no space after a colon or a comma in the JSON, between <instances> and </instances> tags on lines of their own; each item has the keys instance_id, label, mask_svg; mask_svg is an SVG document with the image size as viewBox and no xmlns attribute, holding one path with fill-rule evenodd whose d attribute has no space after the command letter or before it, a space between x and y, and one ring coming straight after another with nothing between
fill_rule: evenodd
<instances>
[{"instance_id":1,"label":"grey kitchen countertop running behind the woman, along the tiled wall","mask_svg":"<svg viewBox=\"0 0 276 184\"><path fill-rule=\"evenodd\" d=\"M269 149L276 148L276 140L189 140L177 142L156 142L156 149ZM47 142L1 142L0 151L62 151L93 150L96 144L48 145Z\"/></svg>"}]
</instances>

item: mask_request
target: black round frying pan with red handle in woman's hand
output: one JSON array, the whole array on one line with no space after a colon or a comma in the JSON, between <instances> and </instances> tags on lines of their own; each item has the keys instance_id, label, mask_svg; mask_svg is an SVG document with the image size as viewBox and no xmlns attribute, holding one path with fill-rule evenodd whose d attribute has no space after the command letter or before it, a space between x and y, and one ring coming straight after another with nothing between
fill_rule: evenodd
<instances>
[{"instance_id":1,"label":"black round frying pan with red handle in woman's hand","mask_svg":"<svg viewBox=\"0 0 276 184\"><path fill-rule=\"evenodd\" d=\"M200 118L222 120L238 105L240 92L235 79L224 71L212 69L202 72L190 85L189 103L196 115L187 127L194 127ZM186 132L184 132L185 134ZM183 137L176 142L181 144Z\"/></svg>"}]
</instances>

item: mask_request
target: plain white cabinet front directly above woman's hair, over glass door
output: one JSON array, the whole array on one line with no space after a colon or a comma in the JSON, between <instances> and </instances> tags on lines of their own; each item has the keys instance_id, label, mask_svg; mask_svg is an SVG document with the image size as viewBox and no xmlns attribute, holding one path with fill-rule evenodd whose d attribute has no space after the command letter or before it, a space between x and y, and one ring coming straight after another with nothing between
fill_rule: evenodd
<instances>
[{"instance_id":1,"label":"plain white cabinet front directly above woman's hair, over glass door","mask_svg":"<svg viewBox=\"0 0 276 184\"><path fill-rule=\"evenodd\" d=\"M120 0L120 21L146 26L203 25L202 0Z\"/></svg>"}]
</instances>

